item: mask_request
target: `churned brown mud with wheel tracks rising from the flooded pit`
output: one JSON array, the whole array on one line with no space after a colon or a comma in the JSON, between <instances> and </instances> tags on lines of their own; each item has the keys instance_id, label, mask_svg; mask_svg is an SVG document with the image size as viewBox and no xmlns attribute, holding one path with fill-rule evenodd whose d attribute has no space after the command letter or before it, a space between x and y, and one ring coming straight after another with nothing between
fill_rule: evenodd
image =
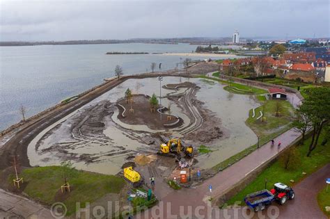
<instances>
[{"instance_id":1,"label":"churned brown mud with wheel tracks rising from the flooded pit","mask_svg":"<svg viewBox=\"0 0 330 219\"><path fill-rule=\"evenodd\" d=\"M186 82L171 84L168 87L187 89L184 92L171 92L164 98L174 102L182 113L189 117L189 124L184 124L182 119L175 117L175 115L171 116L172 120L167 120L167 108L164 109L165 113L162 115L161 121L159 112L150 111L149 97L146 95L134 95L132 98L134 113L129 112L131 103L127 103L123 98L120 98L116 103L102 100L84 108L79 113L74 114L67 122L58 124L49 130L40 138L36 144L36 149L39 150L39 153L52 152L53 156L57 156L60 160L65 157L88 164L102 162L117 156L122 156L123 159L129 161L134 158L136 152L155 153L164 140L172 138L171 130L182 135L183 142L189 140L196 143L193 145L194 147L223 137L220 119L204 108L203 102L196 99L195 94L200 89L196 84ZM125 113L122 106L125 108ZM118 115L114 115L115 112ZM121 127L113 120L116 117L125 124L147 125L156 132L150 133L148 131L136 131L134 127L132 129ZM180 121L173 127L166 127L165 132L161 131L164 129L164 124L175 122L175 120ZM135 142L130 143L135 144L134 147L113 140L114 133L105 134L109 126L123 131L127 138L135 140ZM157 130L161 131L162 134L157 133ZM40 145L48 146L39 148ZM91 149L84 149L88 147ZM49 158L46 157L43 161L47 163L47 159Z\"/></svg>"}]
</instances>

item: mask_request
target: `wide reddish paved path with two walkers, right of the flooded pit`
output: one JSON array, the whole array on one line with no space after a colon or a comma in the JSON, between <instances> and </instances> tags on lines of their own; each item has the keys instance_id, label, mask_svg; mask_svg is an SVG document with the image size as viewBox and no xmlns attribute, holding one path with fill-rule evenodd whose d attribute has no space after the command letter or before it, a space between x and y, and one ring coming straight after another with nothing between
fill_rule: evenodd
<instances>
[{"instance_id":1,"label":"wide reddish paved path with two walkers, right of the flooded pit","mask_svg":"<svg viewBox=\"0 0 330 219\"><path fill-rule=\"evenodd\" d=\"M214 177L207 179L203 182L203 184L196 186L196 188L173 190L171 193L161 197L159 196L160 194L157 194L157 186L155 186L155 193L158 197L160 197L160 201L162 202L160 202L159 205L155 206L153 209L157 209L159 206L164 205L163 218L178 218L176 216L180 215L180 208L187 210L188 206L192 209L193 217L195 214L194 210L198 208L201 209L198 212L203 213L203 216L210 216L207 213L207 206L210 205L210 202L208 201L210 198L210 185L212 185L212 196L219 197L224 191L244 179L246 175L249 175L249 173L258 168L260 165L269 159L272 159L273 156L276 156L278 152L283 150L285 147L288 147L288 145L290 145L299 136L300 133L294 129L286 131L274 139L275 146L272 147L270 143L263 145L260 149L257 149L255 152L252 152L248 156L244 157L244 159L234 163L222 172L219 172ZM279 140L281 140L282 143L280 148L276 146ZM167 202L171 203L171 212L169 211L169 208L166 208ZM148 213L151 214L153 209L151 209ZM230 214L230 212L235 213L234 211L229 211L228 213ZM173 214L173 217L168 216L168 213ZM152 215L149 215L148 217L151 218ZM198 216L196 216L196 218L198 218ZM216 218L216 216L212 214L212 218ZM223 217L221 216L220 218Z\"/></svg>"}]
</instances>

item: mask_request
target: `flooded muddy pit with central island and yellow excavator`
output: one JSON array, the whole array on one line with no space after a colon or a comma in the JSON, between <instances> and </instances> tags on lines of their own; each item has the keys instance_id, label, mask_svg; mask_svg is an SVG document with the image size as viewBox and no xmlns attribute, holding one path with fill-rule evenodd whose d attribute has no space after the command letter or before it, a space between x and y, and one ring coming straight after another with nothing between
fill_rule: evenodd
<instances>
[{"instance_id":1,"label":"flooded muddy pit with central island and yellow excavator","mask_svg":"<svg viewBox=\"0 0 330 219\"><path fill-rule=\"evenodd\" d=\"M40 132L29 143L29 162L70 160L77 169L109 175L132 166L143 179L161 177L165 184L182 171L210 177L214 165L257 140L244 121L258 102L223 86L180 76L129 79ZM159 101L155 107L152 95Z\"/></svg>"}]
</instances>

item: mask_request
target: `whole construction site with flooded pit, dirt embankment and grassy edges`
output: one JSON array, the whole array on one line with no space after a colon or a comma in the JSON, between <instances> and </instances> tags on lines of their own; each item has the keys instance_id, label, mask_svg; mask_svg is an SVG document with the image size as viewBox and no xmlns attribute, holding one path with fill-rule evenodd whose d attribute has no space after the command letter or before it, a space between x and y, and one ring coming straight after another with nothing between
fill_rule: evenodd
<instances>
[{"instance_id":1,"label":"whole construction site with flooded pit, dirt embankment and grassy edges","mask_svg":"<svg viewBox=\"0 0 330 219\"><path fill-rule=\"evenodd\" d=\"M210 76L215 69L212 63L198 63L183 74L171 70L107 79L72 102L41 113L22 131L14 129L2 138L1 188L27 193L44 204L65 202L69 216L81 194L104 207L109 200L120 200L136 209L205 187L253 152L258 130L249 122L258 123L259 98L267 98L265 90L251 92L252 87L244 95L228 91L230 82ZM76 177L67 181L65 165L72 165ZM56 182L46 177L55 186L42 188L47 199L38 197L38 186L31 184L45 180L33 174L40 171L45 177L62 176ZM13 173L14 186L8 184ZM207 203L209 196L202 196ZM125 205L118 209L122 211Z\"/></svg>"}]
</instances>

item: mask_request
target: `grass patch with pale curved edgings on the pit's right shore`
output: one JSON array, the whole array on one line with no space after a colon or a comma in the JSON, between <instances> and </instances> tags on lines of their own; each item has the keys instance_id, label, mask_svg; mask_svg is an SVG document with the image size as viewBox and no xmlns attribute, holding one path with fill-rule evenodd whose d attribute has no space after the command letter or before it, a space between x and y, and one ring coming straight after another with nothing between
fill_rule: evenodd
<instances>
[{"instance_id":1,"label":"grass patch with pale curved edgings on the pit's right shore","mask_svg":"<svg viewBox=\"0 0 330 219\"><path fill-rule=\"evenodd\" d=\"M276 117L276 104L279 104L280 116ZM261 122L261 118L257 120L260 115L263 106L265 106L264 118L265 122ZM246 124L260 137L267 136L269 133L281 129L281 127L292 122L292 116L294 115L294 108L290 102L285 100L267 100L262 106L255 109L255 117L252 117L252 109L249 112L249 118L246 120Z\"/></svg>"}]
</instances>

